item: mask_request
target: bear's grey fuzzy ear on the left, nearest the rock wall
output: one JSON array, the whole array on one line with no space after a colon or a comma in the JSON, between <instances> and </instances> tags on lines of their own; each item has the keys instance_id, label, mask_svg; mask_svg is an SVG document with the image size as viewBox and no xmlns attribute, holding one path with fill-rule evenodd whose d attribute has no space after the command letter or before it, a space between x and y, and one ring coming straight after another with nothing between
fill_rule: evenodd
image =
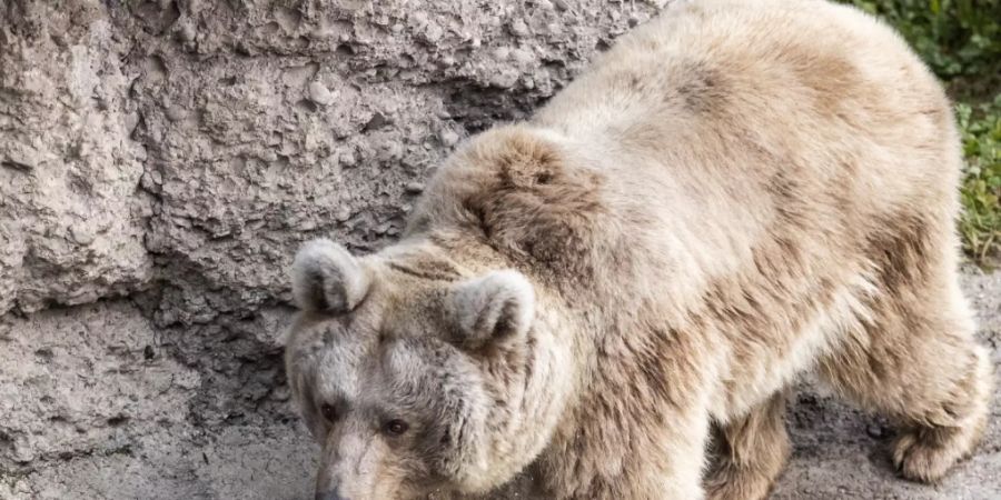
<instances>
[{"instance_id":1,"label":"bear's grey fuzzy ear on the left, nearest the rock wall","mask_svg":"<svg viewBox=\"0 0 1001 500\"><path fill-rule=\"evenodd\" d=\"M350 312L368 293L371 277L344 247L313 240L299 250L291 268L296 306L306 311Z\"/></svg>"}]
</instances>

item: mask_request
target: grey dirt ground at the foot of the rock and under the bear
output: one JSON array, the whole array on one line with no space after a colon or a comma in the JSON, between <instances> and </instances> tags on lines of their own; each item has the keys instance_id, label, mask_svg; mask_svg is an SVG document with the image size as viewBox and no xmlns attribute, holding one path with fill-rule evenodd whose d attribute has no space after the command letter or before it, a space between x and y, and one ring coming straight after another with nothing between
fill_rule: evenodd
<instances>
[{"instance_id":1,"label":"grey dirt ground at the foot of the rock and under the bear","mask_svg":"<svg viewBox=\"0 0 1001 500\"><path fill-rule=\"evenodd\" d=\"M993 349L994 364L1001 364L1001 273L970 269L964 284L981 318L981 339ZM1001 498L997 404L977 454L938 486L894 474L886 452L893 431L885 422L806 384L790 410L795 449L775 499ZM119 450L75 456L24 476L0 478L0 498L308 499L316 452L296 421L214 432L190 427L178 433L170 428Z\"/></svg>"}]
</instances>

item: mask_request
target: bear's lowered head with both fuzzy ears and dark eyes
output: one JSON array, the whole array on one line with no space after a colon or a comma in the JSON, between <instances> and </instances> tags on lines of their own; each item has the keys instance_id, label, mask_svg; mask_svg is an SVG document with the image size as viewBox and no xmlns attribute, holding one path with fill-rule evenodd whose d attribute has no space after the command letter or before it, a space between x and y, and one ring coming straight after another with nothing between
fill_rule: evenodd
<instances>
[{"instance_id":1,"label":"bear's lowered head with both fuzzy ears and dark eyes","mask_svg":"<svg viewBox=\"0 0 1001 500\"><path fill-rule=\"evenodd\" d=\"M482 492L549 440L569 353L536 287L447 256L419 239L360 258L316 240L297 254L286 369L323 448L317 498Z\"/></svg>"}]
</instances>

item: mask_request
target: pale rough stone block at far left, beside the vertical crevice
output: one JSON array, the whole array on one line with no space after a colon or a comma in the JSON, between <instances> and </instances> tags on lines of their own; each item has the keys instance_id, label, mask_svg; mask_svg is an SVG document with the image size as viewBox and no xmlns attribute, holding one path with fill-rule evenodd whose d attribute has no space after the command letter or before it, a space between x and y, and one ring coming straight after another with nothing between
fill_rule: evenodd
<instances>
[{"instance_id":1,"label":"pale rough stone block at far left, beside the vertical crevice","mask_svg":"<svg viewBox=\"0 0 1001 500\"><path fill-rule=\"evenodd\" d=\"M152 278L127 40L100 6L0 1L0 314Z\"/></svg>"}]
</instances>

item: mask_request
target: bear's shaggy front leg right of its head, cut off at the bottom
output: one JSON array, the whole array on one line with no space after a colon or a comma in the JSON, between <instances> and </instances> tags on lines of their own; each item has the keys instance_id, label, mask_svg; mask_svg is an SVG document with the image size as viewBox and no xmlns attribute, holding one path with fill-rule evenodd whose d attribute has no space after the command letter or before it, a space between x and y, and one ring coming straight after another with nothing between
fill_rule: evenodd
<instances>
[{"instance_id":1,"label":"bear's shaggy front leg right of its head, cut off at the bottom","mask_svg":"<svg viewBox=\"0 0 1001 500\"><path fill-rule=\"evenodd\" d=\"M670 379L668 379L670 380ZM677 396L660 401L651 390ZM574 500L704 498L710 418L681 391L633 386L588 398L541 458L548 497Z\"/></svg>"}]
</instances>

